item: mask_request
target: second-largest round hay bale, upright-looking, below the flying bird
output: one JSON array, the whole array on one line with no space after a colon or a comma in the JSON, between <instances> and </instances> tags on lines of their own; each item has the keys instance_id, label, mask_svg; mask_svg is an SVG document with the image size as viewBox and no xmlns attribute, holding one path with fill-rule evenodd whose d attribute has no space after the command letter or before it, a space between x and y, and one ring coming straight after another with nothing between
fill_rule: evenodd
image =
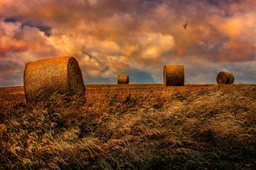
<instances>
[{"instance_id":1,"label":"second-largest round hay bale, upright-looking, below the flying bird","mask_svg":"<svg viewBox=\"0 0 256 170\"><path fill-rule=\"evenodd\" d=\"M165 65L164 66L164 85L183 86L184 85L184 66Z\"/></svg>"}]
</instances>

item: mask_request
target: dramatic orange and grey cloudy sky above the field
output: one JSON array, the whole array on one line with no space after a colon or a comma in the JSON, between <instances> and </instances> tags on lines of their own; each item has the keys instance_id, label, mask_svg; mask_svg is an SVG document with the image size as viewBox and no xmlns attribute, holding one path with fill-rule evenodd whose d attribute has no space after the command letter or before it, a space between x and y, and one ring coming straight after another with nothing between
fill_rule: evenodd
<instances>
[{"instance_id":1,"label":"dramatic orange and grey cloudy sky above the field","mask_svg":"<svg viewBox=\"0 0 256 170\"><path fill-rule=\"evenodd\" d=\"M26 63L73 56L87 84L256 83L255 0L0 0L0 87L23 85ZM188 21L187 28L183 25ZM43 72L43 71L42 71Z\"/></svg>"}]
</instances>

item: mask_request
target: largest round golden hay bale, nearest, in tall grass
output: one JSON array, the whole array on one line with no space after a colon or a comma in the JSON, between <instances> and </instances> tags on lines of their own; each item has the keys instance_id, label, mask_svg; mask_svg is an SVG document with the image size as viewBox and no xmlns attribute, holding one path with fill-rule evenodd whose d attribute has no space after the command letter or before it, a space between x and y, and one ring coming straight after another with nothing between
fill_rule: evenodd
<instances>
[{"instance_id":1,"label":"largest round golden hay bale, nearest, in tall grass","mask_svg":"<svg viewBox=\"0 0 256 170\"><path fill-rule=\"evenodd\" d=\"M69 96L84 96L85 93L78 61L73 57L47 58L27 63L23 85L27 102L46 100L55 92L67 93Z\"/></svg>"}]
</instances>

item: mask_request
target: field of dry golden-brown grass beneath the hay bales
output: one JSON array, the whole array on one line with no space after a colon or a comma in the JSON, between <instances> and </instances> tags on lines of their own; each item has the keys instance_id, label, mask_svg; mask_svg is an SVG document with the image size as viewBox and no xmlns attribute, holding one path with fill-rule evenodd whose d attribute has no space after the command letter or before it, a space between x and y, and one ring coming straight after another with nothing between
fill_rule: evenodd
<instances>
[{"instance_id":1,"label":"field of dry golden-brown grass beneath the hay bales","mask_svg":"<svg viewBox=\"0 0 256 170\"><path fill-rule=\"evenodd\" d=\"M256 169L256 85L0 88L0 169Z\"/></svg>"}]
</instances>

